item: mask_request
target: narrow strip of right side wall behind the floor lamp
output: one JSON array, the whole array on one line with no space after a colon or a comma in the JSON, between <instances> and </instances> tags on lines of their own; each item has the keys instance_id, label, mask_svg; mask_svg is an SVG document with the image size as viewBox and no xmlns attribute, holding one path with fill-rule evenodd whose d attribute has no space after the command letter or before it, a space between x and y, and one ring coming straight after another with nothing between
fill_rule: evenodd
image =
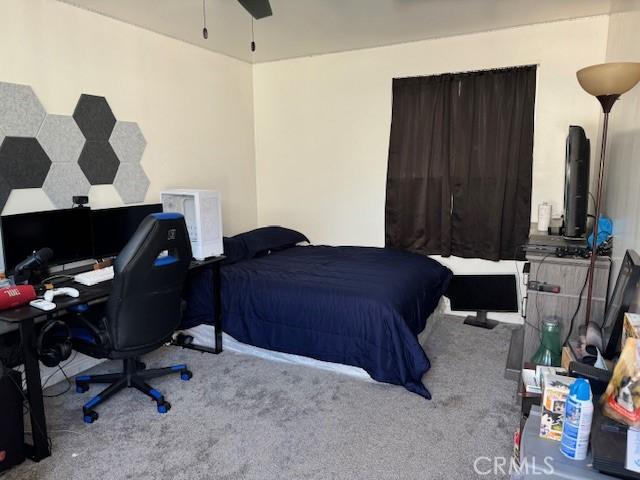
<instances>
[{"instance_id":1,"label":"narrow strip of right side wall behind the floor lamp","mask_svg":"<svg viewBox=\"0 0 640 480\"><path fill-rule=\"evenodd\" d=\"M640 12L611 15L607 61L640 62ZM611 110L607 148L604 211L613 219L617 272L627 249L640 253L640 86Z\"/></svg>"}]
</instances>

